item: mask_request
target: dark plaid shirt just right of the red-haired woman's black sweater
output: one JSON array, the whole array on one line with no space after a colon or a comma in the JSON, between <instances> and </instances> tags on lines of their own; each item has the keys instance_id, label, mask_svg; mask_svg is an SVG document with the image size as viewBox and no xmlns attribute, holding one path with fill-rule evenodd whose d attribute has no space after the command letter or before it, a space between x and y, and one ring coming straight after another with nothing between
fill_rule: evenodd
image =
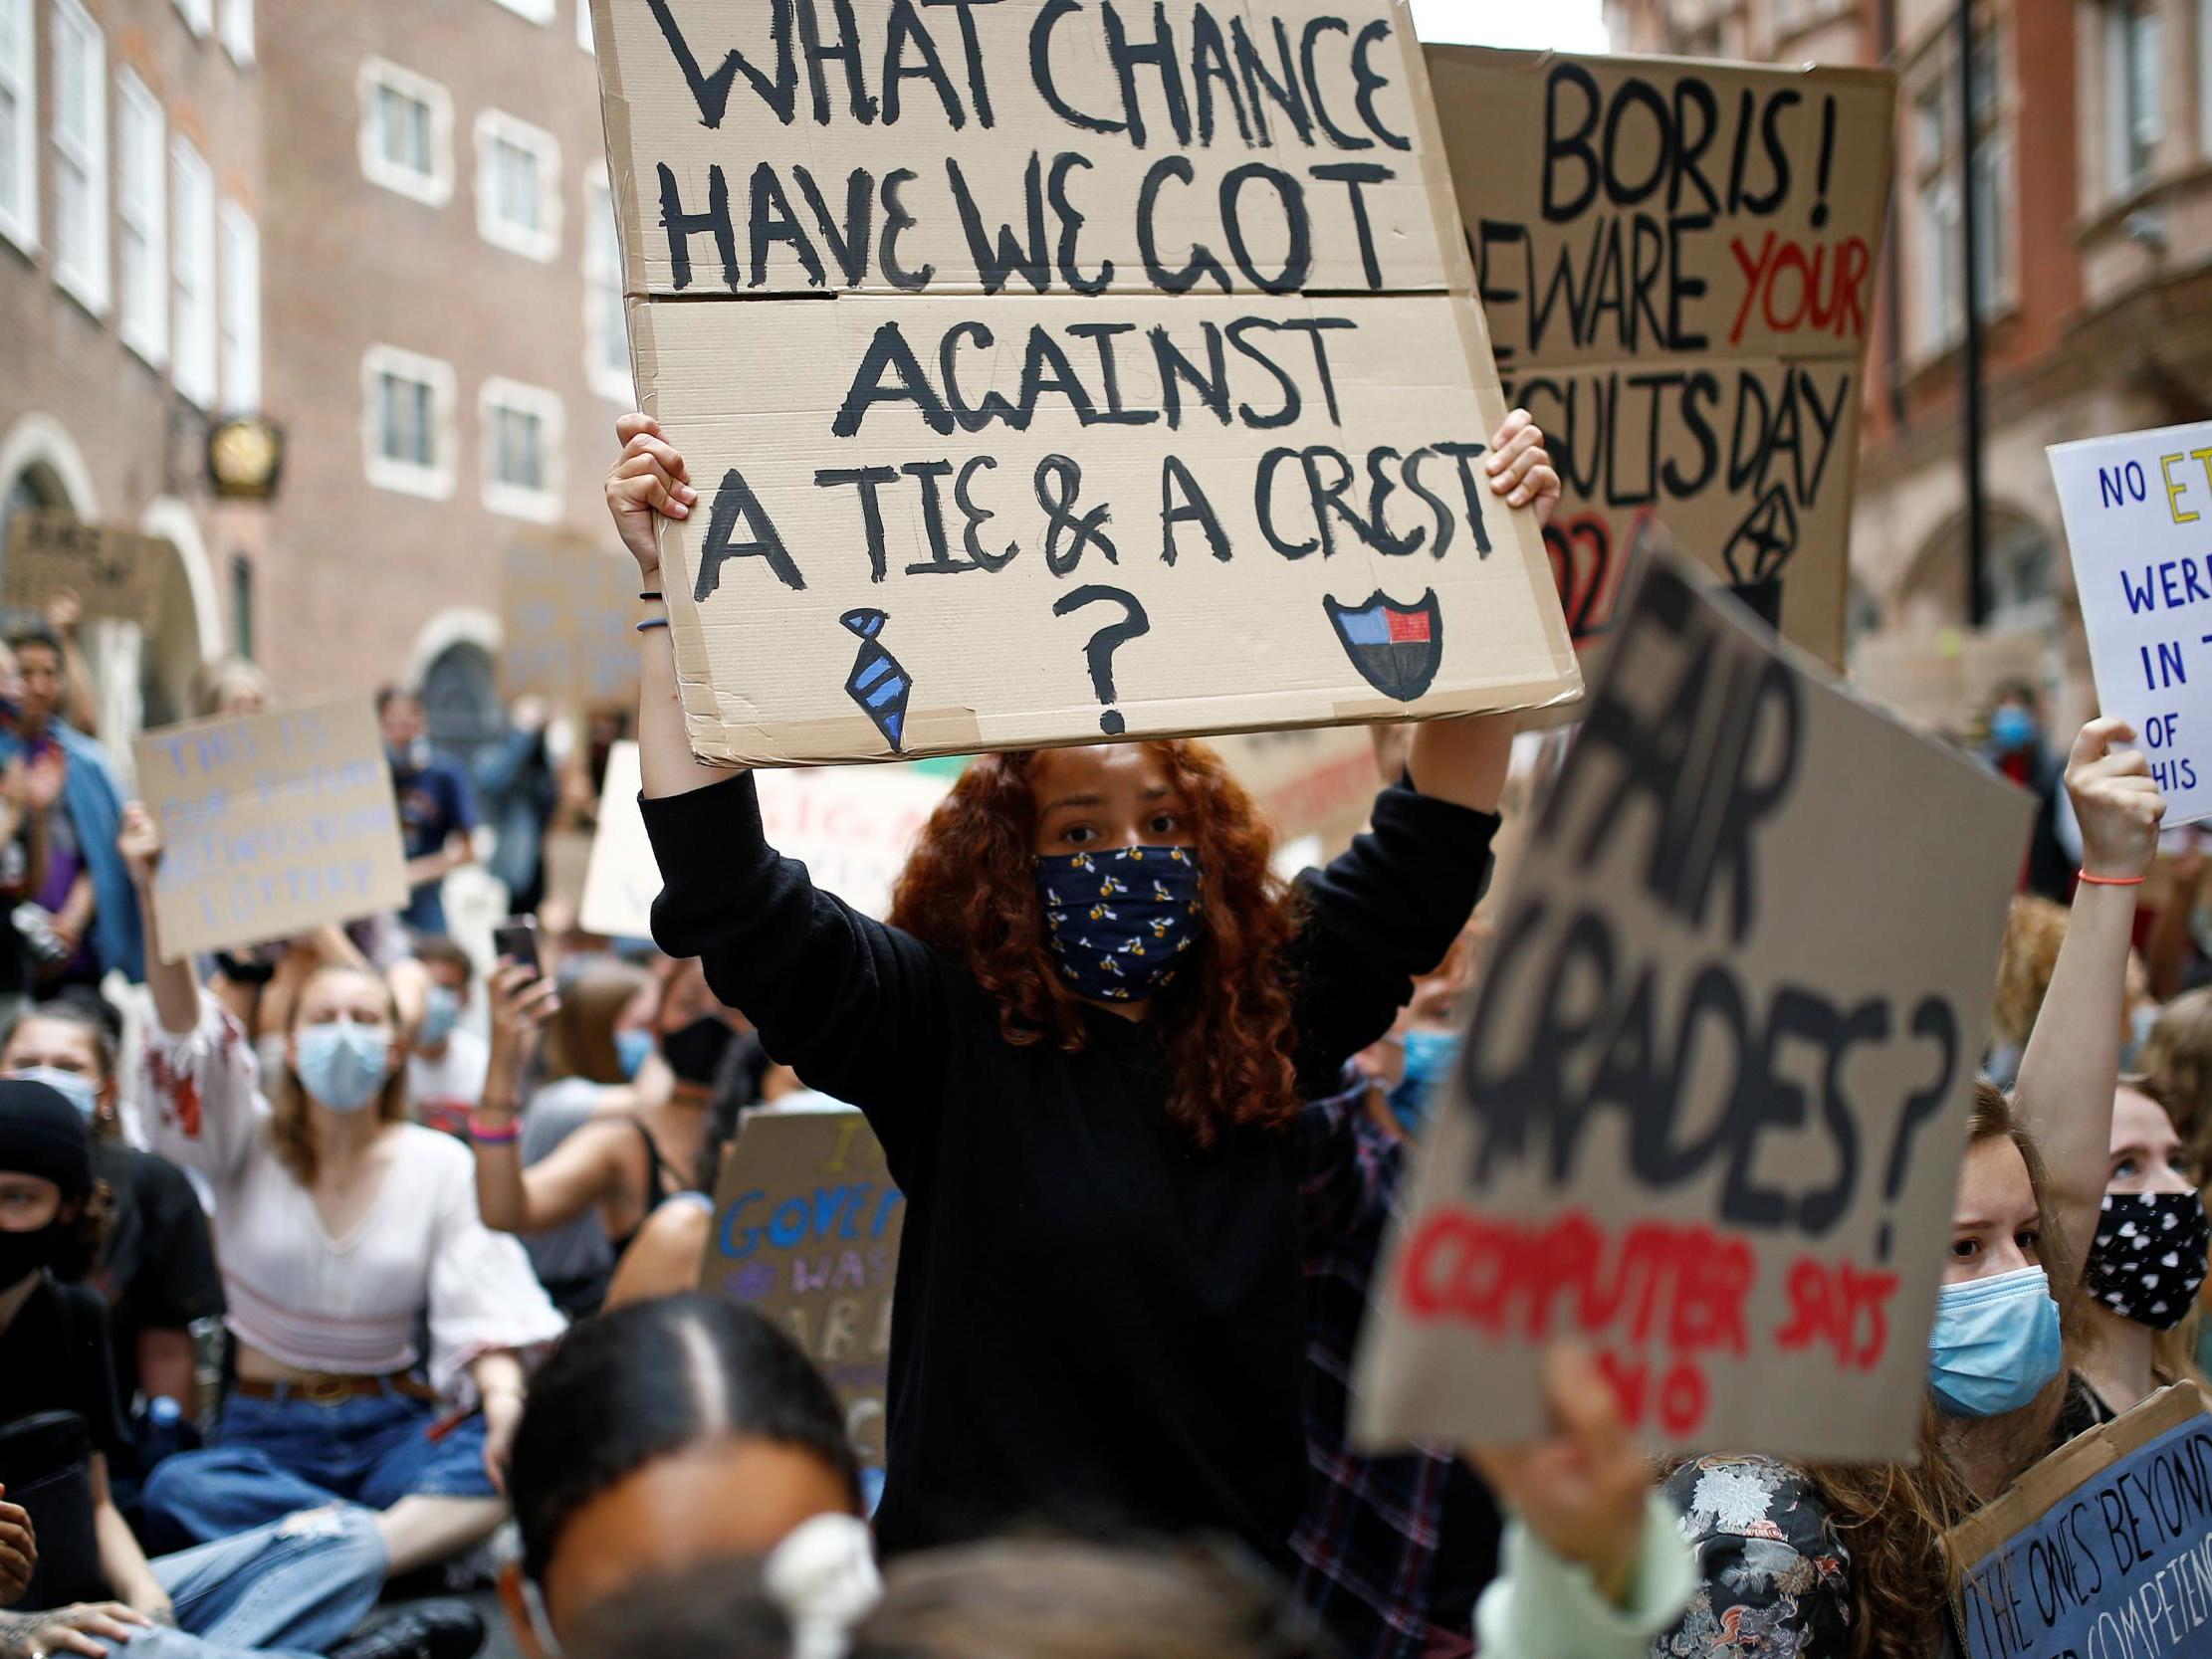
<instances>
[{"instance_id":1,"label":"dark plaid shirt just right of the red-haired woman's black sweater","mask_svg":"<svg viewBox=\"0 0 2212 1659\"><path fill-rule=\"evenodd\" d=\"M1405 1170L1405 1144L1369 1115L1365 1079L1305 1106L1298 1144L1305 1455L1316 1475L1305 1520L1292 1535L1298 1595L1336 1630L1352 1659L1418 1659L1431 1626L1462 1639L1471 1635L1473 1597L1495 1575L1502 1524L1482 1482L1444 1449L1358 1458L1345 1447L1352 1356ZM1440 1551L1453 1557L1442 1562L1442 1573Z\"/></svg>"}]
</instances>

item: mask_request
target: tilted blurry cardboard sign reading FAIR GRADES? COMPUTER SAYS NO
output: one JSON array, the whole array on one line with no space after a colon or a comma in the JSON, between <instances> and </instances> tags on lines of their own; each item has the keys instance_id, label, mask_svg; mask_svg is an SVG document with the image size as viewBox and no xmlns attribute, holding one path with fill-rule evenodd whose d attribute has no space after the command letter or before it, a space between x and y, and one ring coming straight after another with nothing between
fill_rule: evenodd
<instances>
[{"instance_id":1,"label":"tilted blurry cardboard sign reading FAIR GRADES? COMPUTER SAYS NO","mask_svg":"<svg viewBox=\"0 0 2212 1659\"><path fill-rule=\"evenodd\" d=\"M1672 560L1615 639L1498 907L1358 1429L1533 1438L1577 1338L1650 1440L1907 1458L2033 803Z\"/></svg>"}]
</instances>

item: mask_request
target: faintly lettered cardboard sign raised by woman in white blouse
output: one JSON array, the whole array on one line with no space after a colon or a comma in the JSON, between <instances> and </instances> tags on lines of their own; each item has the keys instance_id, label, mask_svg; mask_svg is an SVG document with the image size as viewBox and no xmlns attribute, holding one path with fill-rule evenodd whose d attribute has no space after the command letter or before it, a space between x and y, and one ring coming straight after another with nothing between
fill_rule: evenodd
<instances>
[{"instance_id":1,"label":"faintly lettered cardboard sign raised by woman in white blouse","mask_svg":"<svg viewBox=\"0 0 2212 1659\"><path fill-rule=\"evenodd\" d=\"M161 825L166 960L407 907L392 768L367 697L168 726L131 750Z\"/></svg>"}]
</instances>

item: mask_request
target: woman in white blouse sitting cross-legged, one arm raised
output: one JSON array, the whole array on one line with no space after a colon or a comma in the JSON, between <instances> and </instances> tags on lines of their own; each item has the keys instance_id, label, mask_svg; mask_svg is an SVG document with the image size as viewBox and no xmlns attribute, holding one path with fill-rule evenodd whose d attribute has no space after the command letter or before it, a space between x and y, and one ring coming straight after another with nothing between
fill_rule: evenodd
<instances>
[{"instance_id":1,"label":"woman in white blouse sitting cross-legged, one arm raised","mask_svg":"<svg viewBox=\"0 0 2212 1659\"><path fill-rule=\"evenodd\" d=\"M161 832L144 805L119 847L150 925ZM562 1318L478 1217L469 1150L409 1121L392 989L312 973L263 1095L243 1026L188 962L148 951L146 984L148 1130L215 1190L237 1358L208 1449L159 1464L146 1511L208 1542L356 1502L378 1511L392 1573L476 1546L507 1515L522 1354Z\"/></svg>"}]
</instances>

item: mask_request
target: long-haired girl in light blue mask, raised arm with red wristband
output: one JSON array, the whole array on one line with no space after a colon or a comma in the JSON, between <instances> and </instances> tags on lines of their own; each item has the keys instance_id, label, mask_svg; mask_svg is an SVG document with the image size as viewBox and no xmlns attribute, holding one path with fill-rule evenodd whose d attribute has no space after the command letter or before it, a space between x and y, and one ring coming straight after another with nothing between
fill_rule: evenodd
<instances>
[{"instance_id":1,"label":"long-haired girl in light blue mask, raised arm with red wristband","mask_svg":"<svg viewBox=\"0 0 2212 1659\"><path fill-rule=\"evenodd\" d=\"M1929 1659L1949 1648L1942 1533L2097 1420L2081 1243L2110 1164L2135 883L2166 801L2124 721L2081 730L2066 790L2084 880L2020 1066L1986 1079L1929 1336L1916 1464L1803 1467L1712 1455L1677 1469L1699 1588L1655 1659ZM1933 1265L1933 1263L1929 1263Z\"/></svg>"}]
</instances>

